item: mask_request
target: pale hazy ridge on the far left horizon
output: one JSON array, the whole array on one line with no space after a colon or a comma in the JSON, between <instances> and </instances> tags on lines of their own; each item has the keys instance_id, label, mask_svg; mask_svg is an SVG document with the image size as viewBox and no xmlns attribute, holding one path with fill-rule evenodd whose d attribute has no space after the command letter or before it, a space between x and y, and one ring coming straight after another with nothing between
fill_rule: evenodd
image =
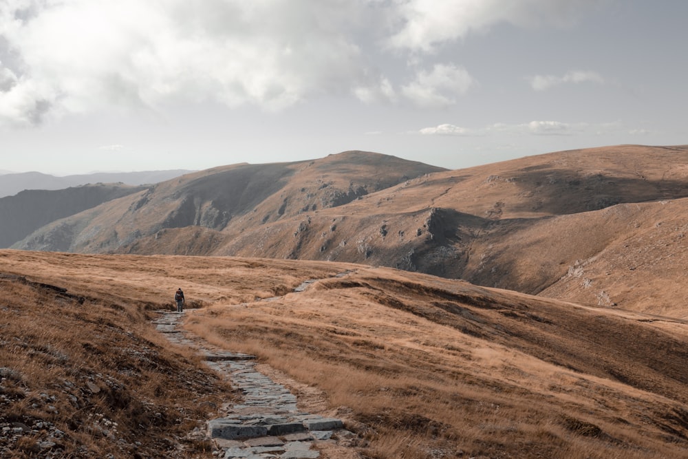
<instances>
[{"instance_id":1,"label":"pale hazy ridge on the far left horizon","mask_svg":"<svg viewBox=\"0 0 688 459\"><path fill-rule=\"evenodd\" d=\"M153 184L169 180L190 171L98 172L56 177L40 172L12 173L0 171L0 198L12 196L23 190L60 190L71 186L96 183L122 183L133 186Z\"/></svg>"}]
</instances>

